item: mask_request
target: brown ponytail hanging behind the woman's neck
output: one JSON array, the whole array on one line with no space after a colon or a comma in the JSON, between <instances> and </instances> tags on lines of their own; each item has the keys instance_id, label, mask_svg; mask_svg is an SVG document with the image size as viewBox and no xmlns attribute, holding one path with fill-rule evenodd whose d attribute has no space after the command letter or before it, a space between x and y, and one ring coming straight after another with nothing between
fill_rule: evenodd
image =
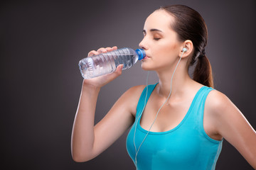
<instances>
[{"instance_id":1,"label":"brown ponytail hanging behind the woman's neck","mask_svg":"<svg viewBox=\"0 0 256 170\"><path fill-rule=\"evenodd\" d=\"M198 57L196 67L193 72L193 80L213 88L212 69L206 55Z\"/></svg>"}]
</instances>

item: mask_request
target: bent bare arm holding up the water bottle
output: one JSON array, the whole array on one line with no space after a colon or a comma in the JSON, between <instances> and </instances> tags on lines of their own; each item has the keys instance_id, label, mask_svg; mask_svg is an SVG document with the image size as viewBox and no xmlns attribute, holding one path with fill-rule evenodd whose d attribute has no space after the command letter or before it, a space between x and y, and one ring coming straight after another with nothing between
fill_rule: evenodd
<instances>
[{"instance_id":1,"label":"bent bare arm holding up the water bottle","mask_svg":"<svg viewBox=\"0 0 256 170\"><path fill-rule=\"evenodd\" d=\"M85 162L97 157L132 125L142 86L125 92L105 118L94 125L100 87L115 79L121 72L122 66L119 66L113 74L83 81L71 139L72 156L76 162Z\"/></svg>"}]
</instances>

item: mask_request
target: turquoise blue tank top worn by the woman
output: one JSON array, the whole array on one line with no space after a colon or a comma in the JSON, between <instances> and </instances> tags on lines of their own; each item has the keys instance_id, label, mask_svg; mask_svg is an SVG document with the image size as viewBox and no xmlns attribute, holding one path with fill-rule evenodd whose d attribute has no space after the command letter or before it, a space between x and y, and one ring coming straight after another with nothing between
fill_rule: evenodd
<instances>
[{"instance_id":1,"label":"turquoise blue tank top worn by the woman","mask_svg":"<svg viewBox=\"0 0 256 170\"><path fill-rule=\"evenodd\" d=\"M156 84L148 86L146 102ZM144 107L146 88L142 91L137 105L137 114L131 130L127 136L127 152L134 164L134 128L137 123L135 145L138 170L213 170L222 149L223 140L213 140L203 129L203 111L208 93L213 90L203 86L194 96L188 112L176 128L166 132L149 132L139 122L139 115ZM142 143L142 141L144 142Z\"/></svg>"}]
</instances>

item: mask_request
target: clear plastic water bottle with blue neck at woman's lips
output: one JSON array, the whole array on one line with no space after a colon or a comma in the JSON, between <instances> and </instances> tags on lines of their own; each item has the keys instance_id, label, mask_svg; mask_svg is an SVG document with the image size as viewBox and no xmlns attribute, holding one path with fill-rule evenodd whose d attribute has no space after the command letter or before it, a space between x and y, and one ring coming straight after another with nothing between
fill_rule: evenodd
<instances>
[{"instance_id":1,"label":"clear plastic water bottle with blue neck at woman's lips","mask_svg":"<svg viewBox=\"0 0 256 170\"><path fill-rule=\"evenodd\" d=\"M84 79L92 79L93 77L114 72L119 64L124 64L122 69L129 69L145 56L146 53L143 49L132 50L132 48L124 47L100 55L86 57L80 60L78 65L82 77Z\"/></svg>"}]
</instances>

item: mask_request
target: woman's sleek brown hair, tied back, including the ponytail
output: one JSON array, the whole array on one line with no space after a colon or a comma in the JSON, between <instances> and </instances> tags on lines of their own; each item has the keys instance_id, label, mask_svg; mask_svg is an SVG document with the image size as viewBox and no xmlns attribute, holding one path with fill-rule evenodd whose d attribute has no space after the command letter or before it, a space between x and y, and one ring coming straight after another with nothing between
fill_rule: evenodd
<instances>
[{"instance_id":1,"label":"woman's sleek brown hair, tied back, including the ponytail","mask_svg":"<svg viewBox=\"0 0 256 170\"><path fill-rule=\"evenodd\" d=\"M176 31L181 41L191 40L194 52L189 65L197 62L193 72L193 80L205 86L213 87L213 75L210 62L205 54L208 31L202 16L193 8L183 5L161 6L157 10L165 10L174 16L175 21L171 28Z\"/></svg>"}]
</instances>

